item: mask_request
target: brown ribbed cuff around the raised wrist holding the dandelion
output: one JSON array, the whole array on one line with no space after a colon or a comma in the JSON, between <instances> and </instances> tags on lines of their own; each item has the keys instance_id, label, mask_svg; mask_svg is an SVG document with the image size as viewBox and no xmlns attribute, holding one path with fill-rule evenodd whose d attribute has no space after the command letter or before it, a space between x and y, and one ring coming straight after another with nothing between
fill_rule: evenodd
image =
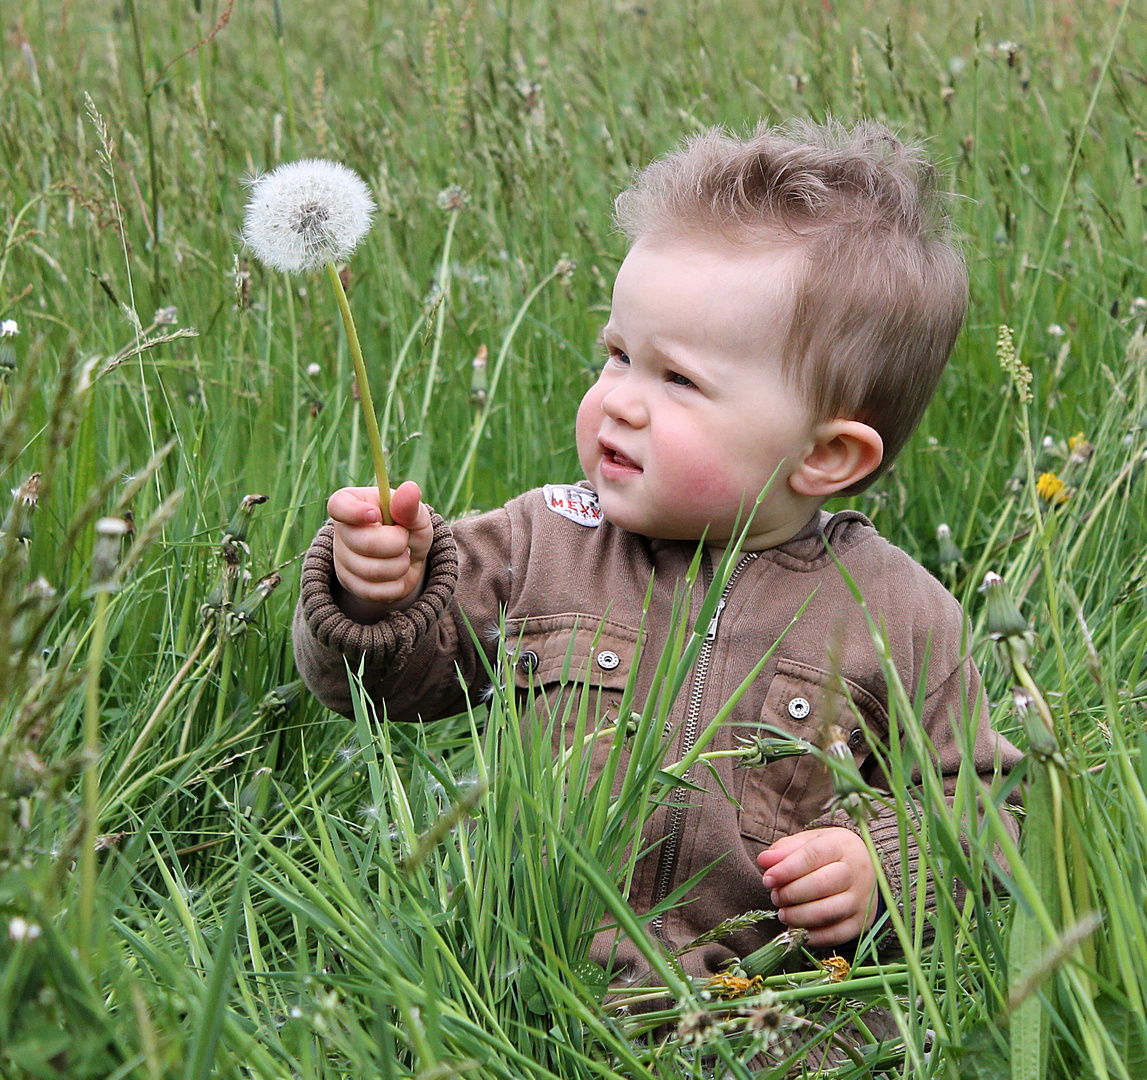
<instances>
[{"instance_id":1,"label":"brown ribbed cuff around the raised wrist holding the dandelion","mask_svg":"<svg viewBox=\"0 0 1147 1080\"><path fill-rule=\"evenodd\" d=\"M335 602L335 527L319 530L303 561L299 603L315 640L357 664L372 667L401 665L414 647L437 624L458 585L458 548L450 526L431 512L434 540L427 555L426 585L419 598L403 611L391 611L377 623L356 623Z\"/></svg>"}]
</instances>

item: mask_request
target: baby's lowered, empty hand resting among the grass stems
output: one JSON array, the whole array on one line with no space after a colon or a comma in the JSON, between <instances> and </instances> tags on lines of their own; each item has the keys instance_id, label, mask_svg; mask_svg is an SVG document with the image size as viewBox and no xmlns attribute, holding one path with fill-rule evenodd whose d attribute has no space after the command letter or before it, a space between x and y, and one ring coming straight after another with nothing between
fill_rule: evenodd
<instances>
[{"instance_id":1,"label":"baby's lowered, empty hand resting among the grass stems","mask_svg":"<svg viewBox=\"0 0 1147 1080\"><path fill-rule=\"evenodd\" d=\"M872 925L876 871L855 832L795 832L765 848L757 864L781 922L807 929L814 948L851 941Z\"/></svg>"}]
</instances>

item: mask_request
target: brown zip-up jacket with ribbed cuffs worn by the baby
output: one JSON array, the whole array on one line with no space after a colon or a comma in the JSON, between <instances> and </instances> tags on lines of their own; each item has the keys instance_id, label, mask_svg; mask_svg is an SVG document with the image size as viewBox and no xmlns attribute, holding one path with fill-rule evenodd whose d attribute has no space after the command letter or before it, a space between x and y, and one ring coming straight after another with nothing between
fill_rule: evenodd
<instances>
[{"instance_id":1,"label":"brown zip-up jacket with ribbed cuffs worn by the baby","mask_svg":"<svg viewBox=\"0 0 1147 1080\"><path fill-rule=\"evenodd\" d=\"M816 742L826 687L832 682L826 656L829 641L837 642L837 668L868 729L879 738L887 734L884 678L863 611L834 564L826 539L884 627L908 692L915 694L924 679L924 726L944 776L954 781L960 766L953 722L960 723L962 712L977 718L975 767L981 777L990 781L997 767L1009 769L1020 756L989 727L980 674L961 645L965 619L959 604L922 566L851 510L833 516L822 511L780 547L740 557L709 655L702 655L707 663L695 665L674 706L677 736L666 760L677 760L682 742L704 727L806 601L804 615L788 629L710 749L738 745L736 736L756 734L759 721ZM584 485L551 485L452 526L436 517L423 593L405 611L364 626L343 615L331 597L331 543L328 523L315 537L303 568L295 616L296 663L320 699L349 714L344 658L352 667L365 659L366 689L379 705L385 705L390 720L451 715L465 709L467 690L477 699L486 688L486 667L463 612L491 663L502 647L497 632L504 613L506 648L516 650L521 687L556 683L572 639L569 680L576 682L588 670L604 704L616 704L638 648L650 576L653 600L645 617L643 648L655 663L669 632L674 588L684 581L696 551L693 542L650 540L602 521L596 496ZM708 557L704 568L707 578L696 582L689 597L690 620L697 616L711 577ZM649 662L640 665L638 703L643 701L641 691L649 686L653 666ZM842 709L837 722L863 775L875 786L885 786L875 773L859 720ZM631 906L641 914L678 883L719 860L689 902L651 926L672 949L733 915L772 906L756 856L774 839L828 824L852 828L842 812L826 813L832 781L812 757L751 769L734 769L729 759L723 759L718 773L740 806L729 803L711 780L690 775L709 790L689 791L678 806L656 812L647 839L669 838L638 863L630 892ZM872 834L898 891L897 819L887 807L877 809ZM910 875L916 855L910 847ZM777 923L762 923L705 946L687 954L686 968L693 975L715 972L731 956L748 955L780 929ZM607 957L608 949L607 942L596 942L595 957ZM624 944L615 963L631 965L630 977L640 973L633 968L643 966L637 952Z\"/></svg>"}]
</instances>

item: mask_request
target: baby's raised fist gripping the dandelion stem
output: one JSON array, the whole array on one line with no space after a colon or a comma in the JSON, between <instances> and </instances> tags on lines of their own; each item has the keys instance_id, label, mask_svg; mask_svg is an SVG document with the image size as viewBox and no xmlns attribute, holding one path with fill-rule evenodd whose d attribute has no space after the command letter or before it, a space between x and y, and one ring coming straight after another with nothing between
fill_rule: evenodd
<instances>
[{"instance_id":1,"label":"baby's raised fist gripping the dandelion stem","mask_svg":"<svg viewBox=\"0 0 1147 1080\"><path fill-rule=\"evenodd\" d=\"M341 487L327 500L335 523L335 576L338 605L357 623L377 623L383 615L418 598L434 526L413 480L390 496L393 525L382 524L379 492Z\"/></svg>"}]
</instances>

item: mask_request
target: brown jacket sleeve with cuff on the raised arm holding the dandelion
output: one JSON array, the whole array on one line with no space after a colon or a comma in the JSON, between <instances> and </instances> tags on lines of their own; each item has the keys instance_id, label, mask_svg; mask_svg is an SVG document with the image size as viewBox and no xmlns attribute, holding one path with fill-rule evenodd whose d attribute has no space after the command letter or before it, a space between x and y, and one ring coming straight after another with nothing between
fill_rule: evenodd
<instances>
[{"instance_id":1,"label":"brown jacket sleeve with cuff on the raised arm holding the dandelion","mask_svg":"<svg viewBox=\"0 0 1147 1080\"><path fill-rule=\"evenodd\" d=\"M303 563L292 636L298 672L325 705L351 714L348 668L360 666L380 717L385 711L390 720L452 715L466 707L468 694L481 691L489 681L486 657L470 626L478 631L498 618L505 590L493 580L498 574L487 571L505 564L509 542L504 512L483 517L489 521L481 527L467 527L481 518L459 526L471 543L490 548L476 555L457 543L454 530L434 514L422 593L409 608L370 625L356 623L336 603L334 526L327 522L319 530Z\"/></svg>"}]
</instances>

